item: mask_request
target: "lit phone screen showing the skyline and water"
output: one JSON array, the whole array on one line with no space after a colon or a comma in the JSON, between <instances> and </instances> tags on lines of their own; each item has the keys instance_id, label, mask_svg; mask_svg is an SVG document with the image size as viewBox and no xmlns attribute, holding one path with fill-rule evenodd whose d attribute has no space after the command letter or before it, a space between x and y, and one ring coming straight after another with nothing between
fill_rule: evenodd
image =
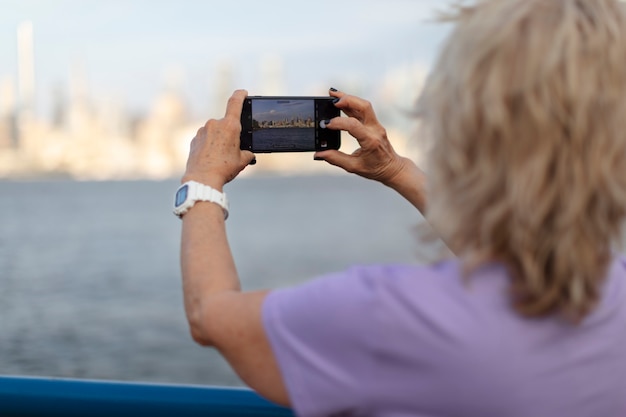
<instances>
[{"instance_id":1,"label":"lit phone screen showing the skyline and water","mask_svg":"<svg viewBox=\"0 0 626 417\"><path fill-rule=\"evenodd\" d=\"M252 100L253 151L314 151L314 100Z\"/></svg>"}]
</instances>

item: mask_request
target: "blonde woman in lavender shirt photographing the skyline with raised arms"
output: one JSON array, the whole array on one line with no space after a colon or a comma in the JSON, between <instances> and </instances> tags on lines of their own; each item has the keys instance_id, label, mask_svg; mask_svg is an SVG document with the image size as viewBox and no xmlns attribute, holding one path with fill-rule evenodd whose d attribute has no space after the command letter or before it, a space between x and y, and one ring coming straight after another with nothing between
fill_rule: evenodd
<instances>
[{"instance_id":1,"label":"blonde woman in lavender shirt photographing the skyline with raised arms","mask_svg":"<svg viewBox=\"0 0 626 417\"><path fill-rule=\"evenodd\" d=\"M222 209L198 203L181 253L192 335L300 415L626 415L626 15L483 0L456 21L419 102L428 179L334 90L349 117L328 128L361 147L316 156L397 190L458 258L241 292ZM251 162L245 96L198 131L183 182L222 191Z\"/></svg>"}]
</instances>

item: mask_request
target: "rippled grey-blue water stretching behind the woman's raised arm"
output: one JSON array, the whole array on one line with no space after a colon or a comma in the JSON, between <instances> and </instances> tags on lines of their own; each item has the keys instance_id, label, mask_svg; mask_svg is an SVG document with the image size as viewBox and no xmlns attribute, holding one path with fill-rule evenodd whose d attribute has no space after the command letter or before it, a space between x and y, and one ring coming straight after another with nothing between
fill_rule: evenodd
<instances>
[{"instance_id":1,"label":"rippled grey-blue water stretching behind the woman's raised arm","mask_svg":"<svg viewBox=\"0 0 626 417\"><path fill-rule=\"evenodd\" d=\"M0 374L242 384L188 333L177 185L0 182ZM226 191L245 289L432 252L415 209L374 182L244 178Z\"/></svg>"}]
</instances>

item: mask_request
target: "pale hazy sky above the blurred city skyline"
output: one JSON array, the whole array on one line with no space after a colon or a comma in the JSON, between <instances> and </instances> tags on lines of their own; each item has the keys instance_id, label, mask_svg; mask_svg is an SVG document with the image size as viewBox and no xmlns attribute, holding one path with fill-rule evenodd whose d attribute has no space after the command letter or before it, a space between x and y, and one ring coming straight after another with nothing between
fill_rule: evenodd
<instances>
[{"instance_id":1,"label":"pale hazy sky above the blurred city skyline","mask_svg":"<svg viewBox=\"0 0 626 417\"><path fill-rule=\"evenodd\" d=\"M437 0L0 0L0 7L0 80L16 83L16 29L31 21L36 110L44 117L51 97L70 95L77 78L95 102L117 100L134 112L148 111L166 89L199 114L224 88L373 94L399 68L427 69L446 33L434 22L445 7ZM272 71L282 76L268 83Z\"/></svg>"}]
</instances>

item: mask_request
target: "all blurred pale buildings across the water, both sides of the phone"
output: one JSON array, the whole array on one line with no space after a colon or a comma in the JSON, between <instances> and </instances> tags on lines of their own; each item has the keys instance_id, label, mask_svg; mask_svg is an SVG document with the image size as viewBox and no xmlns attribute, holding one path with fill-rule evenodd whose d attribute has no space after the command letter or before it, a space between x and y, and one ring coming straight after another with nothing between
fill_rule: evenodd
<instances>
[{"instance_id":1,"label":"all blurred pale buildings across the water, both sides of the phone","mask_svg":"<svg viewBox=\"0 0 626 417\"><path fill-rule=\"evenodd\" d=\"M35 42L30 22L18 29L17 80L0 74L0 178L65 176L77 179L168 178L185 168L189 143L204 122L193 120L182 94L182 73L169 73L161 93L146 114L131 114L120 98L95 100L89 90L85 65L75 63L69 88L51 92L51 117L37 117ZM286 93L284 65L280 57L263 58L258 68L259 91ZM234 88L234 68L228 61L217 66L209 117L222 117ZM399 151L407 149L411 128L406 91L417 89L423 73L401 68L389 73L376 99L376 110L393 136ZM355 87L354 93L358 94ZM397 125L400 129L394 129ZM342 151L351 153L358 144L344 134ZM404 153L404 152L402 152ZM306 154L263 154L246 175L265 172L337 172Z\"/></svg>"}]
</instances>

